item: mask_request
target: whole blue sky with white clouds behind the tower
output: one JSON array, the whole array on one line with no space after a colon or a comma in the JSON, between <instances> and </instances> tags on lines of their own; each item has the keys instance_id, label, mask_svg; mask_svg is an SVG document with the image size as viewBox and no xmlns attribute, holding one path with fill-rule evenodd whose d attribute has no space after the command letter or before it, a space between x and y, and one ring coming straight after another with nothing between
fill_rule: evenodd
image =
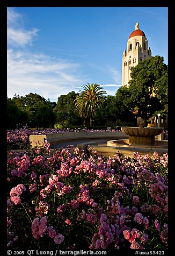
<instances>
[{"instance_id":1,"label":"whole blue sky with white clouds behind the tower","mask_svg":"<svg viewBox=\"0 0 175 256\"><path fill-rule=\"evenodd\" d=\"M121 87L130 33L140 25L152 56L168 65L167 7L8 7L7 94L57 102L86 83Z\"/></svg>"}]
</instances>

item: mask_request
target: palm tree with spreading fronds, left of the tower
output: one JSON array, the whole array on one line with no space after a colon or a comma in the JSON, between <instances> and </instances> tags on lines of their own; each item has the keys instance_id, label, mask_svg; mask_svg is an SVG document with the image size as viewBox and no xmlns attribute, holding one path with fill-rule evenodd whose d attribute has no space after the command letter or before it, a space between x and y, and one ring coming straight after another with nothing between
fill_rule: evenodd
<instances>
[{"instance_id":1,"label":"palm tree with spreading fronds, left of the tower","mask_svg":"<svg viewBox=\"0 0 175 256\"><path fill-rule=\"evenodd\" d=\"M84 90L78 91L74 100L76 111L84 120L90 118L90 126L93 125L93 117L96 115L96 109L105 101L106 91L97 83L87 83L83 86Z\"/></svg>"}]
</instances>

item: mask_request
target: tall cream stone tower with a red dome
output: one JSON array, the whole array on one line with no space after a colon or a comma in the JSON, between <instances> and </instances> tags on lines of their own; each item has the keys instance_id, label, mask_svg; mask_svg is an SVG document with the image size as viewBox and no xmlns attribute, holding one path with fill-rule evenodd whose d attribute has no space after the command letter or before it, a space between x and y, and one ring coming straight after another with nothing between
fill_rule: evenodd
<instances>
[{"instance_id":1,"label":"tall cream stone tower with a red dome","mask_svg":"<svg viewBox=\"0 0 175 256\"><path fill-rule=\"evenodd\" d=\"M122 86L129 87L131 68L139 61L151 58L151 49L148 49L148 40L145 33L139 29L136 22L135 30L129 35L127 51L124 49L122 58Z\"/></svg>"}]
</instances>

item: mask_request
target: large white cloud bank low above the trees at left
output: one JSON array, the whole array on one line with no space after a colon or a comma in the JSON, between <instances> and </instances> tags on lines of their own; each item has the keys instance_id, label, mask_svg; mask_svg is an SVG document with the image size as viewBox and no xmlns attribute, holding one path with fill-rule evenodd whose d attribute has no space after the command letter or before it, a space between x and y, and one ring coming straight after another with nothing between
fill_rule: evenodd
<instances>
[{"instance_id":1,"label":"large white cloud bank low above the trees at left","mask_svg":"<svg viewBox=\"0 0 175 256\"><path fill-rule=\"evenodd\" d=\"M68 94L75 86L83 83L77 63L47 55L27 54L8 50L7 82L8 97L14 94L25 96L37 93L50 101L56 101L62 94Z\"/></svg>"}]
</instances>

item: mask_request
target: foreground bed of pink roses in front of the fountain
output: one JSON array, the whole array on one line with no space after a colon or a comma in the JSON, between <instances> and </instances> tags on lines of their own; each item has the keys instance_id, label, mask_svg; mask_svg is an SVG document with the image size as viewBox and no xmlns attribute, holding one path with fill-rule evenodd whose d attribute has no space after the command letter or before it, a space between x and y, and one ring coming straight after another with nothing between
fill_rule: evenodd
<instances>
[{"instance_id":1,"label":"foreground bed of pink roses in front of the fountain","mask_svg":"<svg viewBox=\"0 0 175 256\"><path fill-rule=\"evenodd\" d=\"M167 248L168 155L8 151L8 248Z\"/></svg>"}]
</instances>

